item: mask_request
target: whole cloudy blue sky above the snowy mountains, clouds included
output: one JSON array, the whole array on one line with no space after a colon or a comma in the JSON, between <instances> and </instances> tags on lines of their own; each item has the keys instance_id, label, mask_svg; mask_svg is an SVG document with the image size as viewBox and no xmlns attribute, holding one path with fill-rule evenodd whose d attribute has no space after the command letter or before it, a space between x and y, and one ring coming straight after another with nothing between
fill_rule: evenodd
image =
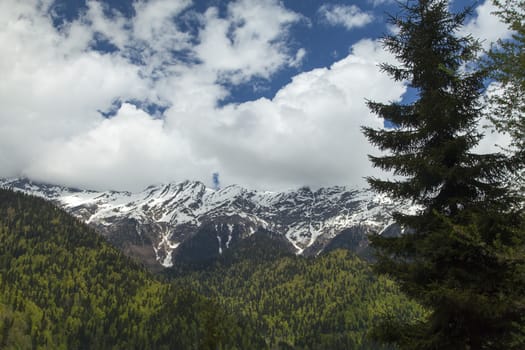
<instances>
[{"instance_id":1,"label":"whole cloudy blue sky above the snowy mountains, clouds included","mask_svg":"<svg viewBox=\"0 0 525 350\"><path fill-rule=\"evenodd\" d=\"M461 0L464 1L464 0ZM471 3L451 2L452 8ZM462 32L509 32L490 0ZM406 101L379 38L390 0L2 0L0 177L140 190L199 180L261 190L364 186ZM481 150L502 135L487 132Z\"/></svg>"}]
</instances>

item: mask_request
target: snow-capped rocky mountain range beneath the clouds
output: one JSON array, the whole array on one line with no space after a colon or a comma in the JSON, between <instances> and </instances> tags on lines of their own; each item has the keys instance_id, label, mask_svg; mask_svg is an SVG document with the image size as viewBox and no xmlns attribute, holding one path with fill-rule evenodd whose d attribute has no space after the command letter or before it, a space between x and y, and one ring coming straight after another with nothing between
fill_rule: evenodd
<instances>
[{"instance_id":1,"label":"snow-capped rocky mountain range beneath the clouds","mask_svg":"<svg viewBox=\"0 0 525 350\"><path fill-rule=\"evenodd\" d=\"M392 212L415 210L368 190L340 186L260 192L235 185L213 190L184 181L131 193L3 179L0 187L54 201L152 267L212 258L257 231L289 242L297 254L349 244L359 252L368 246L367 235L392 224Z\"/></svg>"}]
</instances>

